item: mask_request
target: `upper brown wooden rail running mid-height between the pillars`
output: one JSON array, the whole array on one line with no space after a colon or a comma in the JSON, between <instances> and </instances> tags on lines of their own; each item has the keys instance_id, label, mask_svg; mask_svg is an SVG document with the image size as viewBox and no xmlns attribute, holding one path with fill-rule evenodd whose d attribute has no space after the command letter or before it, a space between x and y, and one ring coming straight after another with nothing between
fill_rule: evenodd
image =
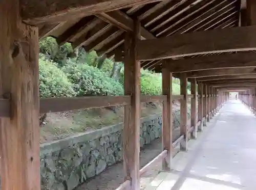
<instances>
[{"instance_id":1,"label":"upper brown wooden rail running mid-height between the pillars","mask_svg":"<svg viewBox=\"0 0 256 190\"><path fill-rule=\"evenodd\" d=\"M194 97L194 95L188 95ZM183 99L184 95L173 95L173 100ZM165 95L141 96L141 102L166 101ZM66 112L87 108L108 107L117 105L129 105L131 96L90 96L90 97L58 97L41 98L40 113ZM0 117L10 117L10 100L0 99Z\"/></svg>"}]
</instances>

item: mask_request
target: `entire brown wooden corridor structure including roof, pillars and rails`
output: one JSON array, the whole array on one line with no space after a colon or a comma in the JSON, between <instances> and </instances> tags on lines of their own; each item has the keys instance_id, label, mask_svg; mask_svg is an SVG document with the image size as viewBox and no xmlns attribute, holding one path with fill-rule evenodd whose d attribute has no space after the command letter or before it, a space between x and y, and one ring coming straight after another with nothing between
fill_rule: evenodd
<instances>
[{"instance_id":1,"label":"entire brown wooden corridor structure including roof, pillars and rails","mask_svg":"<svg viewBox=\"0 0 256 190\"><path fill-rule=\"evenodd\" d=\"M228 91L240 91L255 109L255 14L253 0L0 1L1 188L39 190L39 113L82 108L124 105L125 181L119 190L138 190L140 175L156 160L170 170L173 148L187 149L190 134L196 138ZM40 99L38 41L46 36L123 61L124 96ZM162 72L162 95L140 95L140 68ZM181 95L172 95L173 76L180 78ZM176 141L173 99L181 101ZM162 101L163 147L140 169L140 104L147 101Z\"/></svg>"}]
</instances>

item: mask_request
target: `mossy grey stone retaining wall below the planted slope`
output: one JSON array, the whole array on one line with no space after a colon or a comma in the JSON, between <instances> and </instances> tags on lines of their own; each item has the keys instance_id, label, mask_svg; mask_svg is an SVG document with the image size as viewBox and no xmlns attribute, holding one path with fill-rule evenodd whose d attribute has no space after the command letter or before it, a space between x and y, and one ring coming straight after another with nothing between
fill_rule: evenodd
<instances>
[{"instance_id":1,"label":"mossy grey stone retaining wall below the planted slope","mask_svg":"<svg viewBox=\"0 0 256 190\"><path fill-rule=\"evenodd\" d=\"M179 126L174 113L174 128ZM161 115L141 120L140 146L161 137ZM71 190L122 160L122 127L119 123L40 147L41 189Z\"/></svg>"}]
</instances>

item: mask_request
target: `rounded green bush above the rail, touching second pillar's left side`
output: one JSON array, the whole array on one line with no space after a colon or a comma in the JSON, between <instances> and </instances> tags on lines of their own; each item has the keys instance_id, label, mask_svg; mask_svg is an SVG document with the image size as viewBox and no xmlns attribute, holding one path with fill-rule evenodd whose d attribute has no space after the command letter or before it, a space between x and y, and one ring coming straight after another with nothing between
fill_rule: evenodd
<instances>
[{"instance_id":1,"label":"rounded green bush above the rail, touching second pillar's left side","mask_svg":"<svg viewBox=\"0 0 256 190\"><path fill-rule=\"evenodd\" d=\"M69 60L62 69L73 83L77 96L123 94L123 87L117 80L93 66Z\"/></svg>"}]
</instances>

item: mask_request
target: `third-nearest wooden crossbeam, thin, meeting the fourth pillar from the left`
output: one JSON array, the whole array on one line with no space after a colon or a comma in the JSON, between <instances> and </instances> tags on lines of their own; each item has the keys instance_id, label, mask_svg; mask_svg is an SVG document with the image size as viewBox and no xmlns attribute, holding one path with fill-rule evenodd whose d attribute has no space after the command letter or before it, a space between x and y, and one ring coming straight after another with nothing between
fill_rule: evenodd
<instances>
[{"instance_id":1,"label":"third-nearest wooden crossbeam, thin, meeting the fourth pillar from the left","mask_svg":"<svg viewBox=\"0 0 256 190\"><path fill-rule=\"evenodd\" d=\"M256 74L254 68L229 68L229 69L209 69L204 71L186 72L188 78L206 77L206 76L220 76L220 75L242 75L242 74ZM179 77L179 73L175 77Z\"/></svg>"}]
</instances>

